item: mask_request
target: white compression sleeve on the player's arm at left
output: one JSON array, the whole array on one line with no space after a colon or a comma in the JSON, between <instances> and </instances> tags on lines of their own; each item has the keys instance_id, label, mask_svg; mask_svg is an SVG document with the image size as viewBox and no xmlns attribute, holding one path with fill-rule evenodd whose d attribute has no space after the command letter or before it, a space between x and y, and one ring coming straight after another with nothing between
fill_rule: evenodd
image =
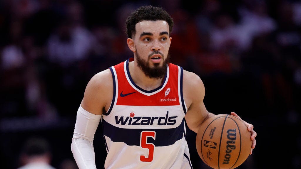
<instances>
[{"instance_id":1,"label":"white compression sleeve on the player's arm at left","mask_svg":"<svg viewBox=\"0 0 301 169\"><path fill-rule=\"evenodd\" d=\"M93 139L101 115L87 112L79 106L71 143L71 151L79 169L96 169Z\"/></svg>"}]
</instances>

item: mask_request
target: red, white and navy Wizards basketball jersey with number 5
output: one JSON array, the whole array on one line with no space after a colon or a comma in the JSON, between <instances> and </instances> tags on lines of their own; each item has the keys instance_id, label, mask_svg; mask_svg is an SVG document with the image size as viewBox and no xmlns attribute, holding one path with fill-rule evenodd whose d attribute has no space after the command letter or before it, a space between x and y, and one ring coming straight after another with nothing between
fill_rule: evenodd
<instances>
[{"instance_id":1,"label":"red, white and navy Wizards basketball jersey with number 5","mask_svg":"<svg viewBox=\"0 0 301 169\"><path fill-rule=\"evenodd\" d=\"M130 76L132 60L109 68L114 94L101 119L107 149L104 168L191 169L182 67L169 63L162 85L146 91Z\"/></svg>"}]
</instances>

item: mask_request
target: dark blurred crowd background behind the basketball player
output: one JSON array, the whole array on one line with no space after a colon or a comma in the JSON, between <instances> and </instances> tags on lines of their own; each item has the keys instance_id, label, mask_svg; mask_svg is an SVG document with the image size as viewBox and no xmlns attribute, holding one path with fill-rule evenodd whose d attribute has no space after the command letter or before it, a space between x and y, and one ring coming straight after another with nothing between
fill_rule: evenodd
<instances>
[{"instance_id":1,"label":"dark blurred crowd background behind the basketball player","mask_svg":"<svg viewBox=\"0 0 301 169\"><path fill-rule=\"evenodd\" d=\"M23 144L43 137L51 165L76 169L76 112L92 76L132 57L125 19L161 6L175 26L171 62L199 75L206 108L254 125L257 145L239 168L301 168L301 2L296 0L1 0L1 168L20 167ZM101 125L96 165L106 156ZM194 168L209 168L187 141Z\"/></svg>"}]
</instances>

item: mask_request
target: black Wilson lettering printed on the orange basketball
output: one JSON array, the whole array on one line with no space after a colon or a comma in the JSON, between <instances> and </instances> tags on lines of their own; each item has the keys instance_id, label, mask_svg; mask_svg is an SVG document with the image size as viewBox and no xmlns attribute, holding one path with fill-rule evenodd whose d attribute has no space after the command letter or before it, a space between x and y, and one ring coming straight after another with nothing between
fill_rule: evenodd
<instances>
[{"instance_id":1,"label":"black Wilson lettering printed on the orange basketball","mask_svg":"<svg viewBox=\"0 0 301 169\"><path fill-rule=\"evenodd\" d=\"M229 139L227 141L227 146L226 146L226 155L224 158L224 162L223 164L229 164L231 155L230 153L232 152L232 150L235 150L236 146L235 146L235 140L236 140L236 129L228 129L227 130L227 138Z\"/></svg>"}]
</instances>

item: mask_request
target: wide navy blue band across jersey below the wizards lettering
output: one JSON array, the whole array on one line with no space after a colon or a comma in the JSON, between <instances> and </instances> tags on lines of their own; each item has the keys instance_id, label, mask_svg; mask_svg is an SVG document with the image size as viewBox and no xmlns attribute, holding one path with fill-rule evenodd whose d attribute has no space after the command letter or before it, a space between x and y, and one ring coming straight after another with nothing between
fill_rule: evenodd
<instances>
[{"instance_id":1,"label":"wide navy blue band across jersey below the wizards lettering","mask_svg":"<svg viewBox=\"0 0 301 169\"><path fill-rule=\"evenodd\" d=\"M113 142L123 142L129 146L140 146L140 136L142 131L155 131L155 140L151 137L147 139L147 143L153 143L155 146L169 146L174 144L176 141L183 138L185 132L184 119L182 123L176 128L139 128L139 129L128 129L119 128L109 124L107 121L102 119L104 135L109 137Z\"/></svg>"}]
</instances>

